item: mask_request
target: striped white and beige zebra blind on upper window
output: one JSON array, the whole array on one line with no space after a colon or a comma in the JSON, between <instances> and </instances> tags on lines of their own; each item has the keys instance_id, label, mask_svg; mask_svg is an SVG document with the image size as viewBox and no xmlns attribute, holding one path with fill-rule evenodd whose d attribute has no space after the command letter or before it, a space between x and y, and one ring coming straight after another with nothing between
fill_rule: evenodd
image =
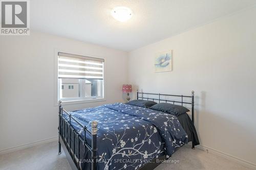
<instances>
[{"instance_id":1,"label":"striped white and beige zebra blind on upper window","mask_svg":"<svg viewBox=\"0 0 256 170\"><path fill-rule=\"evenodd\" d=\"M104 59L58 53L59 79L103 79Z\"/></svg>"}]
</instances>

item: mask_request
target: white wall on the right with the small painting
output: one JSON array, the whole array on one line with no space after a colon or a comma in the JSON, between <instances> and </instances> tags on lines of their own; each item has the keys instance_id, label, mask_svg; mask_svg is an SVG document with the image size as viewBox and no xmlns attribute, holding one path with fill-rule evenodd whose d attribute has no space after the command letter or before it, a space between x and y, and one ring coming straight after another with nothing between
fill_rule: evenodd
<instances>
[{"instance_id":1,"label":"white wall on the right with the small painting","mask_svg":"<svg viewBox=\"0 0 256 170\"><path fill-rule=\"evenodd\" d=\"M255 16L248 9L132 51L129 83L144 92L195 90L201 144L256 167ZM154 73L154 55L169 49L173 71Z\"/></svg>"}]
</instances>

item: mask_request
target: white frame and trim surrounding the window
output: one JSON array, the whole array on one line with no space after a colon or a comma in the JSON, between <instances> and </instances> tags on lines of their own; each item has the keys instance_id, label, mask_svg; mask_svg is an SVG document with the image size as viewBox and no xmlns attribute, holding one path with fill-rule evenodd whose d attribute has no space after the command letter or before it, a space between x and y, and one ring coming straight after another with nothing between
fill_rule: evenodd
<instances>
[{"instance_id":1,"label":"white frame and trim surrounding the window","mask_svg":"<svg viewBox=\"0 0 256 170\"><path fill-rule=\"evenodd\" d=\"M98 98L69 98L67 100L65 99L60 99L62 105L72 105L72 104L82 104L82 103L92 103L92 102L102 102L102 101L106 101L105 100L105 80L104 80L104 74L105 74L105 58L104 57L99 57L99 56L95 56L95 55L88 55L88 54L80 54L77 53L73 50L67 51L67 50L58 50L58 49L54 49L54 106L58 106L58 101L59 101L59 89L60 85L59 85L59 79L58 79L58 53L68 53L68 54L74 54L74 55L79 55L79 56L84 56L84 57L91 57L92 58L101 58L104 59L103 62L103 80L102 80L102 85L100 86L101 88L101 96ZM79 92L81 90L80 87L80 81L81 79L79 79Z\"/></svg>"}]
</instances>

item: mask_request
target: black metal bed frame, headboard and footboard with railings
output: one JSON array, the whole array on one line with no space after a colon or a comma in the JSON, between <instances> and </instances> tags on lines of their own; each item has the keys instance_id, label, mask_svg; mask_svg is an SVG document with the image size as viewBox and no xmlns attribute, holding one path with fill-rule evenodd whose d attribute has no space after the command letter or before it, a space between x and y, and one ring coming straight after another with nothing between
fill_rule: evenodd
<instances>
[{"instance_id":1,"label":"black metal bed frame, headboard and footboard with railings","mask_svg":"<svg viewBox=\"0 0 256 170\"><path fill-rule=\"evenodd\" d=\"M141 94L141 96L139 96ZM148 98L145 97L144 94L147 95L158 95L158 98ZM181 97L181 101L171 101L171 100L163 100L161 99L161 96L174 96L174 97ZM191 98L191 102L184 102L183 98ZM160 93L144 93L139 92L137 90L137 100L138 99L146 99L146 100L152 100L152 101L158 101L159 103L161 101L172 102L172 103L179 103L183 106L183 104L191 104L191 114L192 114L192 122L194 124L194 91L191 91L191 96L189 95L172 95L172 94L160 94ZM66 154L66 157L71 165L72 169L81 169L80 165L80 144L83 145L83 150L85 151L86 148L91 152L91 167L92 170L96 170L96 159L97 159L97 126L98 123L96 121L93 121L91 123L91 131L88 130L88 126L81 125L76 118L74 118L71 114L69 114L65 109L63 109L61 105L61 101L58 102L59 106L59 126L58 126L58 154L61 154L61 145L63 148L63 151ZM63 112L65 112L68 115L68 120L63 116ZM84 130L84 138L80 136L80 134L72 127L71 120L74 120L80 127ZM89 122L88 122L89 123ZM86 134L89 133L92 137L92 143L91 145L86 140ZM73 139L73 147L71 145L71 137ZM75 139L77 139L77 147L75 143ZM73 149L72 149L73 148ZM77 148L77 154L75 153L75 149ZM192 143L192 149L195 149L194 143ZM159 160L165 159L165 156L161 156L158 158ZM155 160L153 160L155 163L146 163L144 166L142 166L139 170L144 169L154 169L157 167L160 163L156 163Z\"/></svg>"}]
</instances>

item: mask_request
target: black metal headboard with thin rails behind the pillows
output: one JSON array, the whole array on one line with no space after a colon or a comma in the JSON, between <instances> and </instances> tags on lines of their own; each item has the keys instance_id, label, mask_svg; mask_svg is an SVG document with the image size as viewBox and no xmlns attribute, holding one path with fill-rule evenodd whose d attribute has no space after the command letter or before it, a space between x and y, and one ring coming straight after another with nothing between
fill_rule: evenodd
<instances>
[{"instance_id":1,"label":"black metal headboard with thin rails behind the pillows","mask_svg":"<svg viewBox=\"0 0 256 170\"><path fill-rule=\"evenodd\" d=\"M137 90L137 100L138 99L142 99L142 100L152 100L158 103L162 102L172 102L173 104L175 103L179 103L181 104L181 106L183 106L183 104L189 104L191 105L191 117L192 117L192 122L194 124L194 91L191 91L191 95L174 95L174 94L160 94L160 93L144 93L144 92L139 92ZM158 98L149 98L148 96L144 96L144 94L150 94L150 95L157 95ZM174 101L174 100L164 100L161 99L161 96L173 96L173 97L180 97L181 100L180 101ZM191 98L191 102L184 102L184 98Z\"/></svg>"}]
</instances>

